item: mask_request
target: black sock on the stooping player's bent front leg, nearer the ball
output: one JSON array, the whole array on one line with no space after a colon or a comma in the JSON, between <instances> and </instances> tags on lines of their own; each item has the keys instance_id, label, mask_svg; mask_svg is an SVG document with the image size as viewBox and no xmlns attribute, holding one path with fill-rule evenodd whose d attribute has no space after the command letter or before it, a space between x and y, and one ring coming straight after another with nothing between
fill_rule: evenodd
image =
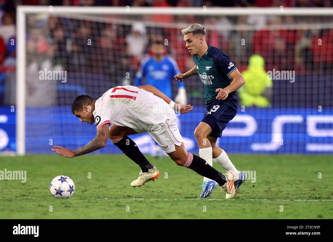
<instances>
[{"instance_id":1,"label":"black sock on the stooping player's bent front leg, nearer the ball","mask_svg":"<svg viewBox=\"0 0 333 242\"><path fill-rule=\"evenodd\" d=\"M117 141L117 140L116 140ZM114 141L112 142L114 143ZM123 137L120 141L114 143L123 153L137 163L142 172L148 172L153 168L153 165L141 153L138 145L128 136Z\"/></svg>"}]
</instances>

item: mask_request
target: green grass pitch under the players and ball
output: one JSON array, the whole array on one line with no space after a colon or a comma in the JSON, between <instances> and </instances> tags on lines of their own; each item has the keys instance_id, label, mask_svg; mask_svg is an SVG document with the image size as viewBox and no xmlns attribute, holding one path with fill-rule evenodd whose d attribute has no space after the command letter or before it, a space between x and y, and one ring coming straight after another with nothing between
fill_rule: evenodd
<instances>
[{"instance_id":1,"label":"green grass pitch under the players and ball","mask_svg":"<svg viewBox=\"0 0 333 242\"><path fill-rule=\"evenodd\" d=\"M168 157L147 156L160 178L133 188L140 168L125 155L3 156L0 170L26 170L27 181L0 180L0 218L333 218L332 156L229 157L238 170L256 171L256 181L246 181L235 198L225 200L219 189L198 199L202 177ZM75 183L70 199L51 196L50 182L58 175Z\"/></svg>"}]
</instances>

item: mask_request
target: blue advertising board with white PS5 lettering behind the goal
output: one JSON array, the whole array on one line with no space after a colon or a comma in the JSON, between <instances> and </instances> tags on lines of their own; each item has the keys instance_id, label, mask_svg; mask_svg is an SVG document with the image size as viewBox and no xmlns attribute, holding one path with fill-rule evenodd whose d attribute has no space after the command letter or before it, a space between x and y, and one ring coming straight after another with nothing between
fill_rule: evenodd
<instances>
[{"instance_id":1,"label":"blue advertising board with white PS5 lettering behind the goal","mask_svg":"<svg viewBox=\"0 0 333 242\"><path fill-rule=\"evenodd\" d=\"M0 107L0 152L15 151L15 111ZM188 152L198 153L193 132L203 117L203 106L177 116ZM70 106L26 109L26 153L52 153L53 145L77 149L96 136L95 125L80 123ZM143 153L155 142L147 134L133 135ZM218 139L235 154L333 153L333 108L239 108ZM94 153L121 153L111 142Z\"/></svg>"}]
</instances>

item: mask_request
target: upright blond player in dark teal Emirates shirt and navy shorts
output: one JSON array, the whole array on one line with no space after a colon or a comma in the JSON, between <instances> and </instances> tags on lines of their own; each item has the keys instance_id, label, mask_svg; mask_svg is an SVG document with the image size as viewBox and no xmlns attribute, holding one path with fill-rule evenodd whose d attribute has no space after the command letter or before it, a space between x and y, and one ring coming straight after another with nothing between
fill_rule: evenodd
<instances>
[{"instance_id":1,"label":"upright blond player in dark teal Emirates shirt and navy shorts","mask_svg":"<svg viewBox=\"0 0 333 242\"><path fill-rule=\"evenodd\" d=\"M225 151L216 146L216 141L237 113L235 94L245 80L227 54L206 43L206 30L202 25L192 24L181 32L186 48L193 55L195 66L174 77L183 82L186 78L198 74L204 90L206 112L194 131L199 145L199 156L211 166L214 160L227 172L232 172L235 176L235 189L238 191L239 186L245 182L246 175L235 168ZM200 197L209 196L216 186L216 182L204 177Z\"/></svg>"}]
</instances>

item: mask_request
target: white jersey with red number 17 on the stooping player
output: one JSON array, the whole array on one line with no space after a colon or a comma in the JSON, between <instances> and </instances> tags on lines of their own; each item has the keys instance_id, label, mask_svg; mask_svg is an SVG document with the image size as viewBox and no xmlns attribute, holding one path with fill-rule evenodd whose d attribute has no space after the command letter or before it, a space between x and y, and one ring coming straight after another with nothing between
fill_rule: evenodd
<instances>
[{"instance_id":1,"label":"white jersey with red number 17 on the stooping player","mask_svg":"<svg viewBox=\"0 0 333 242\"><path fill-rule=\"evenodd\" d=\"M174 110L162 98L135 86L117 86L105 92L95 102L93 115L97 129L111 123L138 133L175 118Z\"/></svg>"}]
</instances>

